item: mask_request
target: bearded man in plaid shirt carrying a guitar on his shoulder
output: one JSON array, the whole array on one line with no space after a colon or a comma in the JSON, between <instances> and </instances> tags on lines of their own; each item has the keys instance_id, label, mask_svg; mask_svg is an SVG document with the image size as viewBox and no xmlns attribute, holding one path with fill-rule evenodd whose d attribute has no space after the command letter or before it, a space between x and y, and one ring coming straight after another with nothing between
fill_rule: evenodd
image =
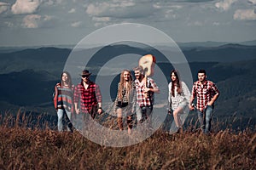
<instances>
[{"instance_id":1,"label":"bearded man in plaid shirt carrying a guitar on his shoulder","mask_svg":"<svg viewBox=\"0 0 256 170\"><path fill-rule=\"evenodd\" d=\"M138 122L142 123L151 115L154 105L154 93L160 93L160 90L152 78L148 77L146 80L142 67L136 67L133 71L136 77L137 105L140 107L141 113L137 113L137 119Z\"/></svg>"}]
</instances>

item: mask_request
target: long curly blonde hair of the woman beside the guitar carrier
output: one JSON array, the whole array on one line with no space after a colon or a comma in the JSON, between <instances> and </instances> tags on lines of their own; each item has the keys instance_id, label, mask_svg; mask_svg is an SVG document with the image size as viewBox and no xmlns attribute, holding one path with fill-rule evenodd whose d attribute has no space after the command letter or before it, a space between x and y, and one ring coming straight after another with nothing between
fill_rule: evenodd
<instances>
[{"instance_id":1,"label":"long curly blonde hair of the woman beside the guitar carrier","mask_svg":"<svg viewBox=\"0 0 256 170\"><path fill-rule=\"evenodd\" d=\"M130 92L132 90L132 76L131 76L131 71L128 71L128 70L123 70L120 74L120 82L119 82L119 90L118 90L118 98L120 100L123 99L123 89L125 88L124 85L125 85L125 78L124 78L124 74L125 74L125 71L127 71L130 75L130 78L129 78L129 82L127 84L127 88L126 88L126 91L125 91L125 94L127 96L127 99L128 101L130 101Z\"/></svg>"}]
</instances>

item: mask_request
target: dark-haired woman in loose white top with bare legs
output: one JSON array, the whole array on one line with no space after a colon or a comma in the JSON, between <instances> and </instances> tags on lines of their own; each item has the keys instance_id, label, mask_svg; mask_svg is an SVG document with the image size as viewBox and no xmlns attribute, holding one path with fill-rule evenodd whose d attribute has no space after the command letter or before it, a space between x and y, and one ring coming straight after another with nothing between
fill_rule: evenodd
<instances>
[{"instance_id":1,"label":"dark-haired woman in loose white top with bare legs","mask_svg":"<svg viewBox=\"0 0 256 170\"><path fill-rule=\"evenodd\" d=\"M169 83L169 103L173 111L174 122L178 128L178 132L183 132L183 122L180 114L183 113L186 106L189 105L190 92L189 88L179 80L176 70L171 71L171 82Z\"/></svg>"}]
</instances>

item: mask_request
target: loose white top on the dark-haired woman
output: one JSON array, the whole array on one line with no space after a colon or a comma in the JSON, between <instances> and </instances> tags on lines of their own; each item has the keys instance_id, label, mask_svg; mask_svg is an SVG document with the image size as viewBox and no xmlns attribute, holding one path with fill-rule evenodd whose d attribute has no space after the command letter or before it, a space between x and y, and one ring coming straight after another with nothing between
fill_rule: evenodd
<instances>
[{"instance_id":1,"label":"loose white top on the dark-haired woman","mask_svg":"<svg viewBox=\"0 0 256 170\"><path fill-rule=\"evenodd\" d=\"M174 96L172 96L172 82L169 83L168 88L169 88L169 103L171 103L172 110L176 110L179 105L188 105L189 104L189 99L190 99L190 91L185 82L181 82L182 86L182 93L177 94L177 86L174 88Z\"/></svg>"}]
</instances>

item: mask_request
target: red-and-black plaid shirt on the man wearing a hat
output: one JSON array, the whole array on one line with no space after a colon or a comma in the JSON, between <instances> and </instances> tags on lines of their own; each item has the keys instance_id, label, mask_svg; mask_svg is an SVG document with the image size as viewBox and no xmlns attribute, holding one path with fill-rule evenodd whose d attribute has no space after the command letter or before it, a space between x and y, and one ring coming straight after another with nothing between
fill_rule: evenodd
<instances>
[{"instance_id":1,"label":"red-and-black plaid shirt on the man wearing a hat","mask_svg":"<svg viewBox=\"0 0 256 170\"><path fill-rule=\"evenodd\" d=\"M99 86L95 82L90 82L88 88L85 89L83 82L81 82L74 89L73 101L79 103L81 112L88 113L92 106L102 103Z\"/></svg>"}]
</instances>

